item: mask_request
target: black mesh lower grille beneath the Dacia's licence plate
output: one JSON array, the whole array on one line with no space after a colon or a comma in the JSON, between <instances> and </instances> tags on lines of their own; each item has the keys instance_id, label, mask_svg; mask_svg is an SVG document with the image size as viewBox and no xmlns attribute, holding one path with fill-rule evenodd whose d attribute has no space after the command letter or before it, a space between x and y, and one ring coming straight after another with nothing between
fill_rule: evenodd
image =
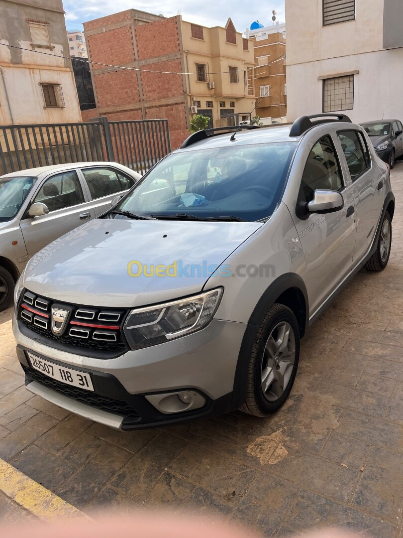
<instances>
[{"instance_id":1,"label":"black mesh lower grille beneath the Dacia's licence plate","mask_svg":"<svg viewBox=\"0 0 403 538\"><path fill-rule=\"evenodd\" d=\"M42 385L45 385L48 388L51 388L53 391L56 391L68 398L81 402L82 404L89 405L91 407L96 407L102 411L107 411L108 413L113 413L119 416L131 416L135 417L135 411L122 400L113 400L112 398L106 398L105 396L100 396L95 392L85 391L82 388L71 387L56 381L56 379L51 379L41 372L36 370L31 370L25 365L21 365L28 376L33 378L35 381L38 381Z\"/></svg>"}]
</instances>

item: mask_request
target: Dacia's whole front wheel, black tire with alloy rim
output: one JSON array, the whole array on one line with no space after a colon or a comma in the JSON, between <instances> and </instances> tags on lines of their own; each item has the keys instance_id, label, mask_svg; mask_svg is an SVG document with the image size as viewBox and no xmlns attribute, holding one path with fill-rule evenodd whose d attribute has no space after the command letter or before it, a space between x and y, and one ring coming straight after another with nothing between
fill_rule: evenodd
<instances>
[{"instance_id":1,"label":"Dacia's whole front wheel, black tire with alloy rim","mask_svg":"<svg viewBox=\"0 0 403 538\"><path fill-rule=\"evenodd\" d=\"M299 359L299 327L292 310L275 303L264 316L249 360L246 399L241 411L268 416L291 392Z\"/></svg>"}]
</instances>

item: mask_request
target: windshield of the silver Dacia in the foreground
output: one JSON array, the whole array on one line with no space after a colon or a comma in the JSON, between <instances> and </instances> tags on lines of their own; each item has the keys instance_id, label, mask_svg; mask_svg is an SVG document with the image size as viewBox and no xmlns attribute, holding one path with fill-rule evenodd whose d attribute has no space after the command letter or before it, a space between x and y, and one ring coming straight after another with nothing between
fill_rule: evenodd
<instances>
[{"instance_id":1,"label":"windshield of the silver Dacia in the foreground","mask_svg":"<svg viewBox=\"0 0 403 538\"><path fill-rule=\"evenodd\" d=\"M270 217L296 147L290 141L172 153L114 210L157 218Z\"/></svg>"}]
</instances>

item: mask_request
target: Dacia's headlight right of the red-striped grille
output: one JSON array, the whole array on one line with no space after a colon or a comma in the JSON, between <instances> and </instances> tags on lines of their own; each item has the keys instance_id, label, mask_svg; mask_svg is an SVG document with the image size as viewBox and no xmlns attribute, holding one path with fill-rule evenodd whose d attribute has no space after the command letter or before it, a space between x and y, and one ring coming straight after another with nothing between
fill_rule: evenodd
<instances>
[{"instance_id":1,"label":"Dacia's headlight right of the red-striped grille","mask_svg":"<svg viewBox=\"0 0 403 538\"><path fill-rule=\"evenodd\" d=\"M162 305L135 308L127 316L124 332L132 349L161 344L202 329L211 321L222 288Z\"/></svg>"}]
</instances>

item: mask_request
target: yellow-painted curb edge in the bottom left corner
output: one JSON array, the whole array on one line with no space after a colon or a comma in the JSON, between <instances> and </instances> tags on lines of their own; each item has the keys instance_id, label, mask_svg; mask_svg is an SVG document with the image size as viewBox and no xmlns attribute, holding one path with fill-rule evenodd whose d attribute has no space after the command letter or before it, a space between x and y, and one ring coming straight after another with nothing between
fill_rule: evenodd
<instances>
[{"instance_id":1,"label":"yellow-painted curb edge in the bottom left corner","mask_svg":"<svg viewBox=\"0 0 403 538\"><path fill-rule=\"evenodd\" d=\"M36 518L91 519L54 493L0 459L0 491Z\"/></svg>"}]
</instances>

